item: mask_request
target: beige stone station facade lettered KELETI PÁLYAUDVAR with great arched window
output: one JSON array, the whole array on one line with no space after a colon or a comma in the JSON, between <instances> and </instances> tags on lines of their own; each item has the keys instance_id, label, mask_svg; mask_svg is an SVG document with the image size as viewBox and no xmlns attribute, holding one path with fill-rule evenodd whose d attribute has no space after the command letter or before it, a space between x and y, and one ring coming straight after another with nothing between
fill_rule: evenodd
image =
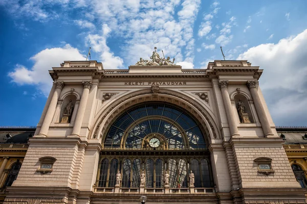
<instances>
[{"instance_id":1,"label":"beige stone station facade lettered KELETI P\u00c1LYAUDVAR with great arched window","mask_svg":"<svg viewBox=\"0 0 307 204\"><path fill-rule=\"evenodd\" d=\"M5 203L305 203L261 73L64 61Z\"/></svg>"}]
</instances>

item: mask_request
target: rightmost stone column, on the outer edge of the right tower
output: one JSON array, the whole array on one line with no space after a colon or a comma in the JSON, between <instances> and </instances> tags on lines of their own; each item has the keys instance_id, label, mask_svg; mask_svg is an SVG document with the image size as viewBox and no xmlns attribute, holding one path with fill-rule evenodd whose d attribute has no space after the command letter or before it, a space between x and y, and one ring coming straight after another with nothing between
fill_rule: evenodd
<instances>
[{"instance_id":1,"label":"rightmost stone column, on the outer edge of the right tower","mask_svg":"<svg viewBox=\"0 0 307 204\"><path fill-rule=\"evenodd\" d=\"M262 130L264 131L264 134L265 134L266 137L274 136L274 134L271 130L271 126L270 126L269 120L267 118L265 109L262 106L260 97L258 95L258 91L256 89L256 84L257 84L256 81L247 81L247 86L250 89L250 92L252 94L254 104L255 104L255 107L256 107L256 111L257 111L257 114L258 114L258 118L259 118L261 126L262 126Z\"/></svg>"}]
</instances>

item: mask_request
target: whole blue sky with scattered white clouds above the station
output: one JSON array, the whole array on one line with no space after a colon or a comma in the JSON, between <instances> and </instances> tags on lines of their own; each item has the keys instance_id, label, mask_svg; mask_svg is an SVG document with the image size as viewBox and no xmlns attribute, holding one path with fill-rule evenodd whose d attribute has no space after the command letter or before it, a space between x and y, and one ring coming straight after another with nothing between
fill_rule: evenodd
<instances>
[{"instance_id":1,"label":"whole blue sky with scattered white clouds above the station","mask_svg":"<svg viewBox=\"0 0 307 204\"><path fill-rule=\"evenodd\" d=\"M276 125L307 125L307 2L0 1L0 125L36 125L64 60L127 68L153 47L184 68L248 60Z\"/></svg>"}]
</instances>

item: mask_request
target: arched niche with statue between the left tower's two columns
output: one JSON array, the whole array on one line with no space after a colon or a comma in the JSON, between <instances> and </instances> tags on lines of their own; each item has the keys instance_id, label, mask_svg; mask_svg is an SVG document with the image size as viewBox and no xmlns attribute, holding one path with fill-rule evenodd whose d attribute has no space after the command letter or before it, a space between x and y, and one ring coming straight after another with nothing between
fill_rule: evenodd
<instances>
[{"instance_id":1,"label":"arched niche with statue between the left tower's two columns","mask_svg":"<svg viewBox=\"0 0 307 204\"><path fill-rule=\"evenodd\" d=\"M63 99L60 121L61 123L70 123L72 115L76 106L77 97L74 94L70 94Z\"/></svg>"}]
</instances>

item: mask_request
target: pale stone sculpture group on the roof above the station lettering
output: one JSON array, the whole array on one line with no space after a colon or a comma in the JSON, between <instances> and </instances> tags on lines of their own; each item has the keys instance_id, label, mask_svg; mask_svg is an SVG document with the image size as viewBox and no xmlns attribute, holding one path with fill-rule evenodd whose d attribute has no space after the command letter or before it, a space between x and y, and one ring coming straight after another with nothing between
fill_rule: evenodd
<instances>
[{"instance_id":1,"label":"pale stone sculpture group on the roof above the station lettering","mask_svg":"<svg viewBox=\"0 0 307 204\"><path fill-rule=\"evenodd\" d=\"M144 60L140 58L140 61L136 63L138 66L158 66L158 65L175 65L175 58L171 61L169 57L165 59L164 53L162 50L163 58L160 57L159 53L157 53L157 47L155 47L155 51L152 52L150 60Z\"/></svg>"}]
</instances>

